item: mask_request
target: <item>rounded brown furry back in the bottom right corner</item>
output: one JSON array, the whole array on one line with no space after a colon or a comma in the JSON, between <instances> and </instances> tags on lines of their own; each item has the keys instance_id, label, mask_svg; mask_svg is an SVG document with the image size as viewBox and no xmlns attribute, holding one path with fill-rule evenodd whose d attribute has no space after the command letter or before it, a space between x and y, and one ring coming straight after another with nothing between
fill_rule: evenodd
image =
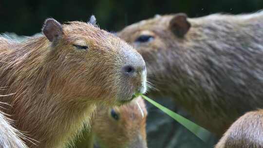
<instances>
[{"instance_id":1,"label":"rounded brown furry back in the bottom right corner","mask_svg":"<svg viewBox=\"0 0 263 148\"><path fill-rule=\"evenodd\" d=\"M227 129L215 148L263 148L263 110L241 116Z\"/></svg>"}]
</instances>

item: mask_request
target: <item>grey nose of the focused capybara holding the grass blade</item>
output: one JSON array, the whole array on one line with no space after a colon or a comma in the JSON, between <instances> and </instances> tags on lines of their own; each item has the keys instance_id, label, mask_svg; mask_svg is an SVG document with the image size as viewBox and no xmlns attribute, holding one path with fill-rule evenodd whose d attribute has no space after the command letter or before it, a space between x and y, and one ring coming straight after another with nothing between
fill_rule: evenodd
<instances>
[{"instance_id":1,"label":"grey nose of the focused capybara holding the grass blade","mask_svg":"<svg viewBox=\"0 0 263 148\"><path fill-rule=\"evenodd\" d=\"M122 67L121 72L125 76L129 77L135 77L138 76L138 74L141 74L146 69L145 63L142 62L142 64L138 65L125 65Z\"/></svg>"}]
</instances>

